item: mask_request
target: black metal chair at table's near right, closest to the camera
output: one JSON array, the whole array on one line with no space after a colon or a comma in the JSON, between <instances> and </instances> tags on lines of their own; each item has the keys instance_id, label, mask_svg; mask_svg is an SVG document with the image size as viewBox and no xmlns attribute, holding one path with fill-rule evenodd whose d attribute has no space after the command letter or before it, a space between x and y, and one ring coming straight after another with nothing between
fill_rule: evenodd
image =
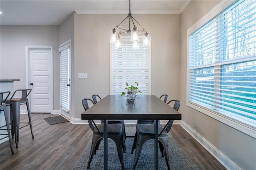
<instances>
[{"instance_id":1,"label":"black metal chair at table's near right, closest to the camera","mask_svg":"<svg viewBox=\"0 0 256 170\"><path fill-rule=\"evenodd\" d=\"M171 100L168 102L175 102L173 108L178 111L180 108L180 101L178 100ZM158 128L158 143L159 143L159 148L162 153L162 157L165 158L166 165L168 167L168 170L170 170L170 162L169 162L169 155L168 155L168 141L167 141L167 133L171 130L172 128L172 123L173 120L169 120L168 123L165 125L164 128L160 127ZM134 163L133 163L133 170L135 170L135 167L138 163L138 160L140 158L140 153L143 144L149 140L149 139L154 139L154 125L152 124L137 124L137 130L134 138L134 143L132 146L132 152L135 150L135 158L134 158Z\"/></svg>"}]
</instances>

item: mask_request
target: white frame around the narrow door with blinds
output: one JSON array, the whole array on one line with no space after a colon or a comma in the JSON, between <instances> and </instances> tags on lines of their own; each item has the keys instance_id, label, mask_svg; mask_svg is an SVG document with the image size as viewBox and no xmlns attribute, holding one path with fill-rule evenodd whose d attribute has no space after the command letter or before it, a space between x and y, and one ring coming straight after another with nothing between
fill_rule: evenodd
<instances>
[{"instance_id":1,"label":"white frame around the narrow door with blinds","mask_svg":"<svg viewBox=\"0 0 256 170\"><path fill-rule=\"evenodd\" d=\"M72 91L72 77L71 77L71 64L72 64L72 60L71 60L71 55L72 55L72 46L71 46L71 39L70 40L68 40L68 41L66 41L66 42L64 42L64 43L61 43L60 44L60 48L61 47L64 47L65 45L68 45L69 44L69 78L70 78L70 90L69 90L69 111L68 111L68 114L67 113L63 113L62 114L62 108L60 108L60 115L62 115L62 116L64 116L65 118L67 118L68 120L70 120L71 119L71 103L72 103L72 101L71 101L71 91ZM60 51L59 51L59 53L60 53ZM60 57L60 54L59 54L59 57ZM61 60L60 60L60 62L61 62ZM59 62L59 65L60 65L60 62ZM60 67L60 70L61 70L61 67ZM61 71L60 71L60 77L61 77ZM60 84L60 86L61 86L61 84ZM59 86L59 87L60 87ZM60 87L60 104L61 104L61 87Z\"/></svg>"}]
</instances>

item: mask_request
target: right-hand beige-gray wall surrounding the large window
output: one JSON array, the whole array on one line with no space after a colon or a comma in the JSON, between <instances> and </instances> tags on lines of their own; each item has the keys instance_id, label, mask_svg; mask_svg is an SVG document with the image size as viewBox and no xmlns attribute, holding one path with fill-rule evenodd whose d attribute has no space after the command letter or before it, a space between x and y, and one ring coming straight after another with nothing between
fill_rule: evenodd
<instances>
[{"instance_id":1,"label":"right-hand beige-gray wall surrounding the large window","mask_svg":"<svg viewBox=\"0 0 256 170\"><path fill-rule=\"evenodd\" d=\"M180 112L192 127L242 169L256 168L256 140L203 113L186 106L187 30L220 1L191 1L181 14Z\"/></svg>"}]
</instances>

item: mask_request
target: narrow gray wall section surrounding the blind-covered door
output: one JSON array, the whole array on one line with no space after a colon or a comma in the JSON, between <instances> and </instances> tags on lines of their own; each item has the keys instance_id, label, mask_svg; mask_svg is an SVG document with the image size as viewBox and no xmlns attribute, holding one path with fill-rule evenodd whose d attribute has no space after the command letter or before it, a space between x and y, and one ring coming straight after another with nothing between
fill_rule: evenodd
<instances>
[{"instance_id":1,"label":"narrow gray wall section surrounding the blind-covered door","mask_svg":"<svg viewBox=\"0 0 256 170\"><path fill-rule=\"evenodd\" d=\"M59 26L59 42L60 44L71 40L71 82L70 82L70 87L71 87L71 111L70 111L70 116L74 117L74 113L75 113L75 76L74 76L74 64L75 64L75 60L74 60L74 12L72 14L70 14L70 16L68 16L68 18L66 18L66 20L64 20L64 22L62 22Z\"/></svg>"}]
</instances>

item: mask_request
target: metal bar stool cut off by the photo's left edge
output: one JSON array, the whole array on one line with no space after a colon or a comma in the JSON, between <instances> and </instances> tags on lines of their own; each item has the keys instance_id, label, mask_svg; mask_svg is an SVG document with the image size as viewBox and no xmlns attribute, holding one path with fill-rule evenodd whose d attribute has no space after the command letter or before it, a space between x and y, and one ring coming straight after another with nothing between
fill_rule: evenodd
<instances>
[{"instance_id":1,"label":"metal bar stool cut off by the photo's left edge","mask_svg":"<svg viewBox=\"0 0 256 170\"><path fill-rule=\"evenodd\" d=\"M7 94L6 98L3 100L4 94L6 94L6 93L8 93L8 94ZM9 144L10 144L11 152L13 155L14 152L13 152L12 143L11 143L11 135L10 135L10 127L9 127L10 124L8 121L8 113L7 113L6 104L5 104L5 101L9 97L10 93L11 93L10 91L5 91L5 92L0 93L0 113L2 113L2 111L4 112L4 118L5 118L5 123L6 123L6 125L2 126L2 127L6 126L6 129L0 129L0 130L7 130L7 134L0 134L0 135L7 135L6 137L1 138L0 140L7 138L7 137L9 138ZM0 128L2 128L2 127L0 127Z\"/></svg>"}]
</instances>

